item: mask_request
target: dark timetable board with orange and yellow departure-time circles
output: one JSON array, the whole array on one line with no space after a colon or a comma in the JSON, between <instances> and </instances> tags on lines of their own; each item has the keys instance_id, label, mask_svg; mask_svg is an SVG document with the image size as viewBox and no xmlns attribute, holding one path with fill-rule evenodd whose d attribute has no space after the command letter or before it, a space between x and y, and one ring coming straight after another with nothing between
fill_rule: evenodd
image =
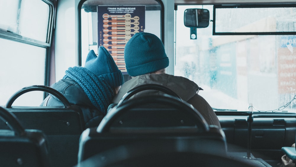
<instances>
[{"instance_id":1,"label":"dark timetable board with orange and yellow departure-time circles","mask_svg":"<svg viewBox=\"0 0 296 167\"><path fill-rule=\"evenodd\" d=\"M98 47L104 46L112 55L118 69L127 74L124 63L126 42L145 29L145 6L99 5Z\"/></svg>"}]
</instances>

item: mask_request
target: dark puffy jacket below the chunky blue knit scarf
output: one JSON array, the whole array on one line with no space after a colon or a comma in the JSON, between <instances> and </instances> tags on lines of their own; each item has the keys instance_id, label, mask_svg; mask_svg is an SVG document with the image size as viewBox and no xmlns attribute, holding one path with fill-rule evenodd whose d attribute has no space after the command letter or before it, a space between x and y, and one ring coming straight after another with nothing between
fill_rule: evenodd
<instances>
[{"instance_id":1,"label":"dark puffy jacket below the chunky blue knit scarf","mask_svg":"<svg viewBox=\"0 0 296 167\"><path fill-rule=\"evenodd\" d=\"M99 125L104 117L103 112L96 109L77 82L71 78L61 79L54 83L51 88L62 93L71 104L81 107L86 128ZM106 106L108 105L106 104ZM41 103L41 106L63 106L63 104L56 97L49 95Z\"/></svg>"}]
</instances>

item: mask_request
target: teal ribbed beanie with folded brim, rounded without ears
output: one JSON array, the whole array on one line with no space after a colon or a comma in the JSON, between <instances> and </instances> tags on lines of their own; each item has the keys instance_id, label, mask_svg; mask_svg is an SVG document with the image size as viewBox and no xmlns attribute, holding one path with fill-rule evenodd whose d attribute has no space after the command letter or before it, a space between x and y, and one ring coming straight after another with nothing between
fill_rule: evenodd
<instances>
[{"instance_id":1,"label":"teal ribbed beanie with folded brim, rounded without ears","mask_svg":"<svg viewBox=\"0 0 296 167\"><path fill-rule=\"evenodd\" d=\"M149 74L168 67L169 60L161 40L154 34L140 32L126 43L124 61L130 76Z\"/></svg>"}]
</instances>

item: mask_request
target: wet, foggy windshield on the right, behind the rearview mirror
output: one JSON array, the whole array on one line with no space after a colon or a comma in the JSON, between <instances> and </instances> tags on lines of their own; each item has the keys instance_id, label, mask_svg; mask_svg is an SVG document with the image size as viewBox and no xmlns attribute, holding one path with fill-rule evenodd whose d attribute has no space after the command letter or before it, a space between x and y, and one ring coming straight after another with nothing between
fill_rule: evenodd
<instances>
[{"instance_id":1,"label":"wet, foggy windshield on the right, behind the rearview mirror","mask_svg":"<svg viewBox=\"0 0 296 167\"><path fill-rule=\"evenodd\" d=\"M210 20L213 20L213 5L178 6L175 11L174 75L197 83L204 89L199 94L214 109L296 112L296 50L293 51L296 47L295 35L213 36L213 22L210 22L207 28L197 28L197 39L190 39L190 28L183 23L184 10L188 8L208 9ZM262 9L257 9L260 15ZM230 15L227 11L231 12L224 10L225 16ZM252 10L255 11L256 8ZM223 20L223 12L219 11L219 16L217 14L216 17ZM240 13L229 18L240 20L240 16L246 15L248 14ZM274 15L275 13L265 14L264 17ZM258 17L258 20L262 19L264 18ZM221 25L229 25L227 19L224 20L226 24ZM252 20L258 21L254 18ZM288 24L285 21L291 24L290 19L281 19L280 23L275 20L274 24L277 27ZM236 29L246 30L248 24L235 26ZM249 26L254 26L254 23L249 23Z\"/></svg>"}]
</instances>

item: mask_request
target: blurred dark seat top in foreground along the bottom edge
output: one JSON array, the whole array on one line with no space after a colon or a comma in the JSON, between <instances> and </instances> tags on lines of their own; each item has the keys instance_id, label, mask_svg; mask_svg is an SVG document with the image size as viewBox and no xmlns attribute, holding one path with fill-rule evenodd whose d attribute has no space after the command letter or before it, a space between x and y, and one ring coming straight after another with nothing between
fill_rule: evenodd
<instances>
[{"instance_id":1,"label":"blurred dark seat top in foreground along the bottom edge","mask_svg":"<svg viewBox=\"0 0 296 167\"><path fill-rule=\"evenodd\" d=\"M197 140L139 141L125 144L78 163L76 167L227 166L255 167L247 161L223 156L214 144Z\"/></svg>"}]
</instances>

